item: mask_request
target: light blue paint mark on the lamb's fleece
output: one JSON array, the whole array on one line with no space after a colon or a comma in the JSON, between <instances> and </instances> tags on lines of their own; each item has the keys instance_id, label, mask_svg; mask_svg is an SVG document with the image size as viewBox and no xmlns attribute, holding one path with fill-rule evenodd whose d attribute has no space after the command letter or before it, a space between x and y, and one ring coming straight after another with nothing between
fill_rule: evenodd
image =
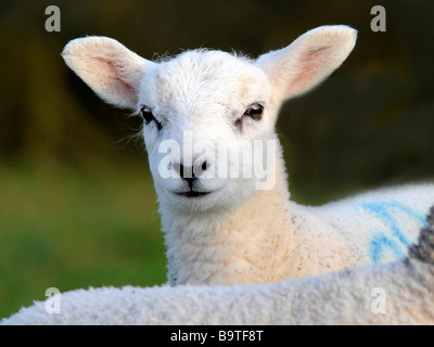
<instances>
[{"instance_id":1,"label":"light blue paint mark on the lamb's fleece","mask_svg":"<svg viewBox=\"0 0 434 347\"><path fill-rule=\"evenodd\" d=\"M406 232L400 228L393 211L399 210L417 220L421 226L426 226L426 220L423 216L397 203L370 202L362 203L361 207L384 220L387 223L390 231L392 231L392 235L384 231L374 232L369 243L371 260L374 262L381 261L386 249L390 249L397 258L401 258L406 255L407 247L411 244L411 241L408 239Z\"/></svg>"}]
</instances>

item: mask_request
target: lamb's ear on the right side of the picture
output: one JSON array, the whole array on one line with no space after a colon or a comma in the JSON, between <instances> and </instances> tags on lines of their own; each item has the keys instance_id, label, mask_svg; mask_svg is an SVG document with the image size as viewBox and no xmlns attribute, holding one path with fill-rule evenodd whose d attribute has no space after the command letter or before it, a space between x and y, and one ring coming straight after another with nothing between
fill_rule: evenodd
<instances>
[{"instance_id":1,"label":"lamb's ear on the right side of the picture","mask_svg":"<svg viewBox=\"0 0 434 347\"><path fill-rule=\"evenodd\" d=\"M286 48L256 61L267 75L277 102L302 94L337 68L356 43L357 31L345 25L321 26L302 35Z\"/></svg>"}]
</instances>

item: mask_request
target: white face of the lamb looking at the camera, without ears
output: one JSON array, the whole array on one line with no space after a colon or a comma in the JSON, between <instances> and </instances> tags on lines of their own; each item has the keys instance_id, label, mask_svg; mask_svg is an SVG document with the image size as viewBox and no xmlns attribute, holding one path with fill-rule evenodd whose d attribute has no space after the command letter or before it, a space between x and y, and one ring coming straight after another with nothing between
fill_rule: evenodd
<instances>
[{"instance_id":1,"label":"white face of the lamb looking at the camera, without ears","mask_svg":"<svg viewBox=\"0 0 434 347\"><path fill-rule=\"evenodd\" d=\"M138 111L161 202L228 208L273 181L266 171L267 145L269 156L275 149L270 86L253 62L184 52L145 75Z\"/></svg>"}]
</instances>

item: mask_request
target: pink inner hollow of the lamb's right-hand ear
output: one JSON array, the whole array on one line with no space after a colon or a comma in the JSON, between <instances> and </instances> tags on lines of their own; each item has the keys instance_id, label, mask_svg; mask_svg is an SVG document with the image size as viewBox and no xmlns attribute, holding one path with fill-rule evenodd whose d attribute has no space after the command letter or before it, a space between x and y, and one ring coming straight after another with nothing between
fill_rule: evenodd
<instances>
[{"instance_id":1,"label":"pink inner hollow of the lamb's right-hand ear","mask_svg":"<svg viewBox=\"0 0 434 347\"><path fill-rule=\"evenodd\" d=\"M290 66L293 69L293 79L289 86L289 94L302 93L321 81L324 70L328 70L328 59L324 51L331 46L320 46L301 54L297 62Z\"/></svg>"}]
</instances>

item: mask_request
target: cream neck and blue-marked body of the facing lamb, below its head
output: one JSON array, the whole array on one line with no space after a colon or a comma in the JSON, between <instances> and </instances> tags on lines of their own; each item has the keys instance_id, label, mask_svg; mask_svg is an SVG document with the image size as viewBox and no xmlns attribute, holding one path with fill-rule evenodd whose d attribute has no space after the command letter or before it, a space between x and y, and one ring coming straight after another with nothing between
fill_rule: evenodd
<instances>
[{"instance_id":1,"label":"cream neck and blue-marked body of the facing lamb, below its head","mask_svg":"<svg viewBox=\"0 0 434 347\"><path fill-rule=\"evenodd\" d=\"M285 196L283 182L258 192L216 227L205 218L193 235L182 232L188 214L162 210L170 284L271 283L403 259L426 224L434 185L383 189L320 207Z\"/></svg>"}]
</instances>

